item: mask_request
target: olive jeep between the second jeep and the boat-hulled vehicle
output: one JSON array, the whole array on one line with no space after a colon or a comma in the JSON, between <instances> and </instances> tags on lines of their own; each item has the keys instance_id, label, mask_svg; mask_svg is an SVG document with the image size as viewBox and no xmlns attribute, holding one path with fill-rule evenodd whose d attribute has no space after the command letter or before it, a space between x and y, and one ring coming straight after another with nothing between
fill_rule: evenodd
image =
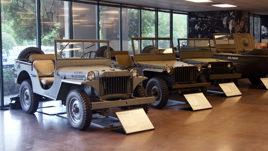
<instances>
[{"instance_id":1,"label":"olive jeep between the second jeep and the boat-hulled vehicle","mask_svg":"<svg viewBox=\"0 0 268 151\"><path fill-rule=\"evenodd\" d=\"M238 85L241 74L235 72L231 61L214 59L210 50L210 39L207 38L178 38L178 43L188 41L188 45L179 45L179 56L177 60L193 65L200 65L207 81L212 84L234 82Z\"/></svg>"}]
</instances>

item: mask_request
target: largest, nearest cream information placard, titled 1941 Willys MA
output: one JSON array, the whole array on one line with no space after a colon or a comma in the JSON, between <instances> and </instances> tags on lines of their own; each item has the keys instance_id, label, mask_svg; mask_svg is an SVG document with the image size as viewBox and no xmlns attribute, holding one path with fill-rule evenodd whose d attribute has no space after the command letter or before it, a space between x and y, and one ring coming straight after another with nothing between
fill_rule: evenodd
<instances>
[{"instance_id":1,"label":"largest, nearest cream information placard, titled 1941 Willys MA","mask_svg":"<svg viewBox=\"0 0 268 151\"><path fill-rule=\"evenodd\" d=\"M147 130L154 130L153 124L149 120L143 108L115 112L125 133L138 133Z\"/></svg>"}]
</instances>

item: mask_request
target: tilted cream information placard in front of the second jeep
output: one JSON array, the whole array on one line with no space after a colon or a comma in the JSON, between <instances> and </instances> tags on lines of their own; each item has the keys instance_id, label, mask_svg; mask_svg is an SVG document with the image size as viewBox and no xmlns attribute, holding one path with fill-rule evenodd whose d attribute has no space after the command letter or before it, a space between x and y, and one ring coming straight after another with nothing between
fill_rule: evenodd
<instances>
[{"instance_id":1,"label":"tilted cream information placard in front of the second jeep","mask_svg":"<svg viewBox=\"0 0 268 151\"><path fill-rule=\"evenodd\" d=\"M205 95L200 93L192 93L192 94L184 94L184 97L190 104L191 108L195 110L202 110L202 109L208 109L212 108L210 105L210 102L207 101L207 98Z\"/></svg>"}]
</instances>

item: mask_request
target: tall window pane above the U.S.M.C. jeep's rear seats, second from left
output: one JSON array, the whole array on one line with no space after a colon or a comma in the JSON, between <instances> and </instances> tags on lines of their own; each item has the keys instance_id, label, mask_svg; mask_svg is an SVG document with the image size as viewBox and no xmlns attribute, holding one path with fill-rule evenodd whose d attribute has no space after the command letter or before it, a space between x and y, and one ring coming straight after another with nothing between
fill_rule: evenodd
<instances>
[{"instance_id":1,"label":"tall window pane above the U.S.M.C. jeep's rear seats, second from left","mask_svg":"<svg viewBox=\"0 0 268 151\"><path fill-rule=\"evenodd\" d=\"M41 0L40 14L41 49L54 53L54 39L69 39L69 2Z\"/></svg>"}]
</instances>

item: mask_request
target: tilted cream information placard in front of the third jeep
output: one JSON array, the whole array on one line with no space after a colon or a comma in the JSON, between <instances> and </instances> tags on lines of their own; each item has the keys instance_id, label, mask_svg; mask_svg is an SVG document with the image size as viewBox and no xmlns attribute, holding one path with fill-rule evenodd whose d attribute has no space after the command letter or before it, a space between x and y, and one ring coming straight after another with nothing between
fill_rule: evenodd
<instances>
[{"instance_id":1,"label":"tilted cream information placard in front of the third jeep","mask_svg":"<svg viewBox=\"0 0 268 151\"><path fill-rule=\"evenodd\" d=\"M222 84L219 84L219 86L227 97L235 96L235 95L242 95L242 93L238 90L234 82L222 83Z\"/></svg>"}]
</instances>

